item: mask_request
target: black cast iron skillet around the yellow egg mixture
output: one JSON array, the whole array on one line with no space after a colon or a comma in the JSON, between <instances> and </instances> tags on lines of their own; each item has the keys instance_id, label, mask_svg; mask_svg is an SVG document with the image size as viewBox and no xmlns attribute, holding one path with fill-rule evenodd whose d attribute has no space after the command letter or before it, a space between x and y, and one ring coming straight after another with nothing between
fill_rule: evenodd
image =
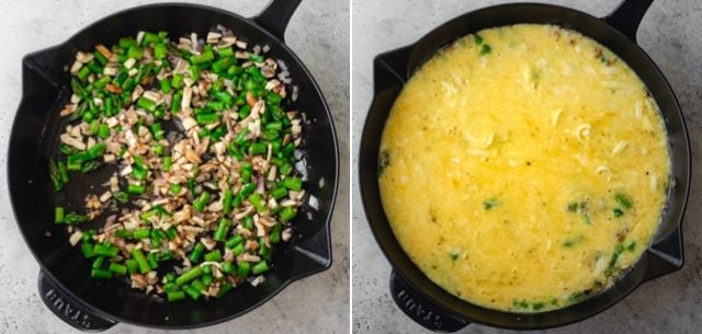
<instances>
[{"instance_id":1,"label":"black cast iron skillet around the yellow egg mixture","mask_svg":"<svg viewBox=\"0 0 702 334\"><path fill-rule=\"evenodd\" d=\"M375 58L375 96L361 139L361 194L371 230L393 266L393 298L412 320L435 332L454 332L471 322L518 330L559 326L592 316L616 303L641 284L682 267L681 223L690 187L690 143L682 112L672 90L656 65L636 45L636 30L652 2L653 0L625 0L603 19L548 4L495 5L453 19L417 43ZM535 314L480 308L445 292L429 280L395 239L383 211L377 184L381 134L396 96L412 72L437 50L458 37L487 27L517 23L550 23L578 31L609 47L626 61L660 106L672 164L672 181L660 228L653 244L632 270L614 286L586 301Z\"/></svg>"}]
</instances>

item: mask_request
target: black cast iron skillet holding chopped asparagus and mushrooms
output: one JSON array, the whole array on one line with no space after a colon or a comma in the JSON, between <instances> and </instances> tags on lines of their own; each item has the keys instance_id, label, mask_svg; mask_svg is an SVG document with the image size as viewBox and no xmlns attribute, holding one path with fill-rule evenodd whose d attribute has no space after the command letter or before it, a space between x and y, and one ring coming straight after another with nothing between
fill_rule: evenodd
<instances>
[{"instance_id":1,"label":"black cast iron skillet holding chopped asparagus and mushrooms","mask_svg":"<svg viewBox=\"0 0 702 334\"><path fill-rule=\"evenodd\" d=\"M12 127L8 157L10 198L14 215L30 250L41 265L39 292L48 308L65 322L83 331L103 331L116 322L155 327L197 327L241 315L283 289L290 283L331 265L329 223L338 175L337 138L325 99L314 79L283 43L288 20L301 0L274 0L259 15L246 19L224 10L199 4L165 3L129 9L100 20L67 42L26 56L22 61L23 97ZM69 73L76 50L114 44L121 36L135 36L140 30L166 30L171 37L190 32L206 33L223 24L250 44L270 46L270 55L285 61L299 97L291 106L305 111L315 123L306 129L304 150L309 182L307 192L319 199L319 210L307 220L293 222L291 243L274 256L273 268L262 286L244 285L226 298L211 301L159 302L114 280L90 278L90 263L80 249L71 247L61 226L53 223L58 200L81 209L82 198L107 180L107 168L97 175L72 173L66 189L56 195L48 182L48 157L58 147L64 120L58 111L69 97ZM318 181L326 186L319 188ZM93 227L103 224L97 221ZM50 235L49 235L50 234Z\"/></svg>"}]
</instances>

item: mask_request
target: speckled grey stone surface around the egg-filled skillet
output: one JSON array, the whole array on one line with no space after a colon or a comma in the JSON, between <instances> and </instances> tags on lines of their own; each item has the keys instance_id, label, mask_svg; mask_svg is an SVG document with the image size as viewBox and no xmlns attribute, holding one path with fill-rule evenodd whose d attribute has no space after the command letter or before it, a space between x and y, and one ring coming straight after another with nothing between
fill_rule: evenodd
<instances>
[{"instance_id":1,"label":"speckled grey stone surface around the egg-filled skillet","mask_svg":"<svg viewBox=\"0 0 702 334\"><path fill-rule=\"evenodd\" d=\"M365 221L358 191L358 148L372 99L372 60L417 38L461 13L500 3L488 0L370 1L353 0L353 293L354 333L430 333L394 304L388 295L389 265ZM616 0L547 1L603 16ZM702 1L655 1L644 18L638 43L657 62L684 112L693 165L702 145ZM647 283L610 310L580 323L544 333L701 333L702 324L702 173L692 172L693 184L684 221L686 265L672 275ZM461 333L511 333L469 325Z\"/></svg>"}]
</instances>

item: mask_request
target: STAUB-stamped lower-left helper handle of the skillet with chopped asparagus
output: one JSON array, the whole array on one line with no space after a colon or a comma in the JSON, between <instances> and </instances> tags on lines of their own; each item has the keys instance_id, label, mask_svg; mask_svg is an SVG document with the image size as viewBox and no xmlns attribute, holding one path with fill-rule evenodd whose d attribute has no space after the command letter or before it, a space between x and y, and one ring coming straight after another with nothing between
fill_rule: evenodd
<instances>
[{"instance_id":1,"label":"STAUB-stamped lower-left helper handle of the skillet with chopped asparagus","mask_svg":"<svg viewBox=\"0 0 702 334\"><path fill-rule=\"evenodd\" d=\"M65 323L82 332L102 332L116 324L114 320L102 318L68 295L64 288L39 270L39 296L46 307Z\"/></svg>"}]
</instances>

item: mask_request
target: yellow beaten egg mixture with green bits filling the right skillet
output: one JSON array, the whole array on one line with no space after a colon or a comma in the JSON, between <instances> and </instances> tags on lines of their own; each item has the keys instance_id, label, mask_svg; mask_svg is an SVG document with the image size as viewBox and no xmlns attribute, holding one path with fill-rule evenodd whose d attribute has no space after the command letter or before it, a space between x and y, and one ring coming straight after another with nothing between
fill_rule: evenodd
<instances>
[{"instance_id":1,"label":"yellow beaten egg mixture with green bits filling the right skillet","mask_svg":"<svg viewBox=\"0 0 702 334\"><path fill-rule=\"evenodd\" d=\"M597 42L488 28L424 64L378 157L397 240L468 302L541 312L610 286L650 243L670 159L655 101Z\"/></svg>"}]
</instances>

